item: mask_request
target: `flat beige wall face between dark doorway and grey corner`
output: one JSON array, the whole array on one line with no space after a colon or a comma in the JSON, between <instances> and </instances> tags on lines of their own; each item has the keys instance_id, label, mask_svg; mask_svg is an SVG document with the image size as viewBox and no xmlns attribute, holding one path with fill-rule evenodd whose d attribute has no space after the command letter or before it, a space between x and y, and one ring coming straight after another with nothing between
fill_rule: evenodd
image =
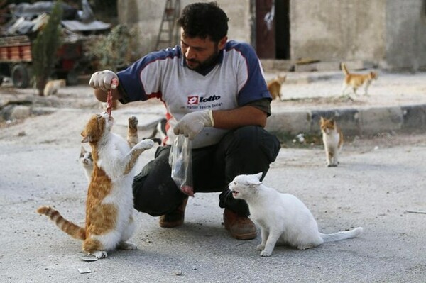
<instances>
[{"instance_id":1,"label":"flat beige wall face between dark doorway and grey corner","mask_svg":"<svg viewBox=\"0 0 426 283\"><path fill-rule=\"evenodd\" d=\"M290 56L322 61L385 55L386 0L297 0L290 3Z\"/></svg>"}]
</instances>

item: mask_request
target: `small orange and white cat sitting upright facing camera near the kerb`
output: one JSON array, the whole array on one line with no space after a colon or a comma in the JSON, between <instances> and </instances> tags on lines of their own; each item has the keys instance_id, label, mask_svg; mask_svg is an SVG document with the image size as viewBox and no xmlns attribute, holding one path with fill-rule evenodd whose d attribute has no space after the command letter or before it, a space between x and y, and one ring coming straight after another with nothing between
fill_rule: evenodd
<instances>
[{"instance_id":1,"label":"small orange and white cat sitting upright facing camera near the kerb","mask_svg":"<svg viewBox=\"0 0 426 283\"><path fill-rule=\"evenodd\" d=\"M337 167L339 164L339 152L343 146L343 133L337 126L334 118L320 118L322 142L324 143L325 156L328 167Z\"/></svg>"}]
</instances>

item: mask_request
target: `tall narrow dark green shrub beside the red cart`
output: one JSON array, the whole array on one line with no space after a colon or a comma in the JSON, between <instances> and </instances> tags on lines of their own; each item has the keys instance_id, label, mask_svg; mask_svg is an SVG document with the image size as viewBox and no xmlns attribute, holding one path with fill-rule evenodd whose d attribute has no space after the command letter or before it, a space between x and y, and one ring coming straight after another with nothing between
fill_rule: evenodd
<instances>
[{"instance_id":1,"label":"tall narrow dark green shrub beside the red cart","mask_svg":"<svg viewBox=\"0 0 426 283\"><path fill-rule=\"evenodd\" d=\"M35 87L38 95L43 96L43 89L53 72L58 56L56 55L62 44L61 26L62 6L61 1L56 1L45 27L38 32L33 41L31 53L33 57L33 72Z\"/></svg>"}]
</instances>

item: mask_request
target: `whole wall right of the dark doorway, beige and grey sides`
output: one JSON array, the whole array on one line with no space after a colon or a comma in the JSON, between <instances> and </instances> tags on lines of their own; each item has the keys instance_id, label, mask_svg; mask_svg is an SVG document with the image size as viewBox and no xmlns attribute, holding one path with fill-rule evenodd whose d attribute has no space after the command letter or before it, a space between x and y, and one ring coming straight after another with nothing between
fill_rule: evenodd
<instances>
[{"instance_id":1,"label":"whole wall right of the dark doorway, beige and grey sides","mask_svg":"<svg viewBox=\"0 0 426 283\"><path fill-rule=\"evenodd\" d=\"M290 56L426 69L425 2L290 0Z\"/></svg>"}]
</instances>

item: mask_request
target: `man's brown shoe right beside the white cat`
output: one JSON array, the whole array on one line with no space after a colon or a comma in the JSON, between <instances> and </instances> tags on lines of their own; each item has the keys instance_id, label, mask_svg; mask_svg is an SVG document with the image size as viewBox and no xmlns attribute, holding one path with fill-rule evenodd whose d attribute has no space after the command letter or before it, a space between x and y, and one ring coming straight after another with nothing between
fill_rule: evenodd
<instances>
[{"instance_id":1,"label":"man's brown shoe right beside the white cat","mask_svg":"<svg viewBox=\"0 0 426 283\"><path fill-rule=\"evenodd\" d=\"M256 226L246 216L238 216L229 209L224 210L224 223L226 230L238 240L251 240L256 238Z\"/></svg>"}]
</instances>

